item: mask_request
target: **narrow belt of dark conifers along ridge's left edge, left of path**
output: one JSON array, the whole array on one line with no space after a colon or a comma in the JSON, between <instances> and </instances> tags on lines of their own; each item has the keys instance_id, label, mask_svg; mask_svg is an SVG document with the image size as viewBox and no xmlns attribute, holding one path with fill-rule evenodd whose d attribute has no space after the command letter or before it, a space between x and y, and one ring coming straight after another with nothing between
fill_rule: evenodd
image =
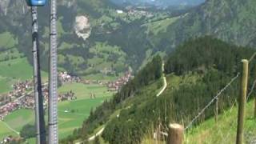
<instances>
[{"instance_id":1,"label":"narrow belt of dark conifers along ridge's left edge, left of path","mask_svg":"<svg viewBox=\"0 0 256 144\"><path fill-rule=\"evenodd\" d=\"M82 128L74 130L74 134L62 142L72 142L80 137L86 138L88 134L94 132L94 129L107 122L114 110L118 110L122 106L123 101L136 96L142 87L150 85L151 82L158 80L161 76L162 58L157 55L142 70L139 70L135 78L123 86L113 98L103 102L102 106L98 106L96 110L91 110L90 116L85 120Z\"/></svg>"}]
</instances>

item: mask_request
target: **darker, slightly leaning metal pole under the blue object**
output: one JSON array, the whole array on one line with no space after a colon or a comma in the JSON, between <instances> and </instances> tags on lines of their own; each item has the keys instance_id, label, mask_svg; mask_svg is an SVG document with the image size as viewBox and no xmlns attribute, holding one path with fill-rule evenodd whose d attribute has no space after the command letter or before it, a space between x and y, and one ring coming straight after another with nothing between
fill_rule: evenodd
<instances>
[{"instance_id":1,"label":"darker, slightly leaning metal pole under the blue object","mask_svg":"<svg viewBox=\"0 0 256 144\"><path fill-rule=\"evenodd\" d=\"M31 7L32 14L32 44L33 44L33 62L34 62L34 108L37 130L37 143L46 143L46 129L43 111L42 82L39 58L39 40L38 40L38 13L37 7Z\"/></svg>"}]
</instances>

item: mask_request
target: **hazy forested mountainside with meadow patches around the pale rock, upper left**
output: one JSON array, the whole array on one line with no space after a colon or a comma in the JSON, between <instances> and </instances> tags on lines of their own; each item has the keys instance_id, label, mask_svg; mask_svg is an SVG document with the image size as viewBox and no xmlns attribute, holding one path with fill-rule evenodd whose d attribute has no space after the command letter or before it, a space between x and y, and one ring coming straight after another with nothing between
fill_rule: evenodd
<instances>
[{"instance_id":1,"label":"hazy forested mountainside with meadow patches around the pale rock, upper left","mask_svg":"<svg viewBox=\"0 0 256 144\"><path fill-rule=\"evenodd\" d=\"M31 19L30 8L25 1L6 0L0 3L0 42L17 41L14 46L0 45L0 61L26 56L30 64ZM118 6L108 0L58 1L58 68L73 75L98 74L102 70L121 74L129 67L138 70L146 58L146 51L156 52L146 38L146 28L141 27L151 18L158 19L162 12L134 14L124 10L118 14ZM5 11L6 10L6 11ZM38 25L42 69L48 69L49 6L38 8ZM149 16L150 15L150 16ZM80 22L81 21L81 22ZM79 37L78 23L88 38ZM8 35L9 34L9 35ZM1 35L6 35L2 38ZM10 50L11 49L11 50ZM16 52L19 54L15 54ZM6 53L14 55L9 57ZM153 53L153 54L154 54ZM152 55L153 55L152 54Z\"/></svg>"}]
</instances>

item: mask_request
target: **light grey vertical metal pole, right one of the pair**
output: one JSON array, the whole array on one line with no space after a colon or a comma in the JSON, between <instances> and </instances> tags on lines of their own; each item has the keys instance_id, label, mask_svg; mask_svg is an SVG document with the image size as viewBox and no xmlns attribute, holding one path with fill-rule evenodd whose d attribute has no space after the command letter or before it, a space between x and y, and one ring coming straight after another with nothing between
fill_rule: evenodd
<instances>
[{"instance_id":1,"label":"light grey vertical metal pole, right one of the pair","mask_svg":"<svg viewBox=\"0 0 256 144\"><path fill-rule=\"evenodd\" d=\"M57 6L50 1L50 68L49 68L49 144L58 144L58 94L57 94Z\"/></svg>"}]
</instances>

